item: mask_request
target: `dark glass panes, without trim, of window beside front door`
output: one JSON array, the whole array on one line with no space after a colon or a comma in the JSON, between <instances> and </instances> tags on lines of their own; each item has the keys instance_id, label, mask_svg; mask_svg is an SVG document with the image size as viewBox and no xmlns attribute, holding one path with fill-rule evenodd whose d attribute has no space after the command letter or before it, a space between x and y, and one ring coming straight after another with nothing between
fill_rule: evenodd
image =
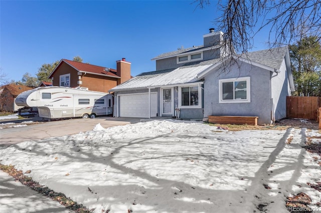
<instances>
[{"instance_id":1,"label":"dark glass panes, without trim, of window beside front door","mask_svg":"<svg viewBox=\"0 0 321 213\"><path fill-rule=\"evenodd\" d=\"M181 87L181 105L199 106L199 86Z\"/></svg>"}]
</instances>

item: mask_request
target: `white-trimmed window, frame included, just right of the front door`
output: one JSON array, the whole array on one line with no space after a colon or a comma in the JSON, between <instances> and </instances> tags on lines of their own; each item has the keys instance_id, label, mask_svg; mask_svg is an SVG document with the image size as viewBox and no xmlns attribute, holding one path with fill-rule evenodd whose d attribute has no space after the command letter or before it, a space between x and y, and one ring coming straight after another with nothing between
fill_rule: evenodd
<instances>
[{"instance_id":1,"label":"white-trimmed window, frame included, just right of the front door","mask_svg":"<svg viewBox=\"0 0 321 213\"><path fill-rule=\"evenodd\" d=\"M201 87L199 85L180 87L180 107L200 108L201 107Z\"/></svg>"}]
</instances>

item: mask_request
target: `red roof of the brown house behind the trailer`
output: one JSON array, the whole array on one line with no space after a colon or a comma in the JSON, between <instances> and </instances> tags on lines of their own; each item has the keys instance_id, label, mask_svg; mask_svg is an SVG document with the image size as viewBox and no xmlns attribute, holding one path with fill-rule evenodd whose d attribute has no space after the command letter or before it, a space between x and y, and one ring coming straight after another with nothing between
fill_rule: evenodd
<instances>
[{"instance_id":1,"label":"red roof of the brown house behind the trailer","mask_svg":"<svg viewBox=\"0 0 321 213\"><path fill-rule=\"evenodd\" d=\"M103 67L103 66L97 66L97 65L92 65L92 64L89 64L89 63L82 63L82 62L77 62L77 61L68 60L68 59L62 59L61 62L59 63L59 65L56 67L56 69L60 66L62 61L64 61L65 63L67 63L67 64L69 64L71 66L73 66L78 71L91 72L91 73L94 73L94 74L102 74L102 75L107 75L107 76L111 76L111 77L119 77L116 74L116 69L110 68L110 71L106 72L104 70L105 67ZM49 78L52 77L54 72L51 73Z\"/></svg>"}]
</instances>

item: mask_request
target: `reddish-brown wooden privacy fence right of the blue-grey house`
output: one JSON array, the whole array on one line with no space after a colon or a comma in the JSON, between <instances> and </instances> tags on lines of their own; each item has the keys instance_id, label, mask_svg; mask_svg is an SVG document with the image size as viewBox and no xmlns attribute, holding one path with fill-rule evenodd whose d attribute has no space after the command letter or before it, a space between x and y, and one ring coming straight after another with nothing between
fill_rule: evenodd
<instances>
[{"instance_id":1,"label":"reddish-brown wooden privacy fence right of the blue-grey house","mask_svg":"<svg viewBox=\"0 0 321 213\"><path fill-rule=\"evenodd\" d=\"M311 120L318 120L319 107L321 107L321 97L286 97L286 116L289 118L306 118Z\"/></svg>"}]
</instances>

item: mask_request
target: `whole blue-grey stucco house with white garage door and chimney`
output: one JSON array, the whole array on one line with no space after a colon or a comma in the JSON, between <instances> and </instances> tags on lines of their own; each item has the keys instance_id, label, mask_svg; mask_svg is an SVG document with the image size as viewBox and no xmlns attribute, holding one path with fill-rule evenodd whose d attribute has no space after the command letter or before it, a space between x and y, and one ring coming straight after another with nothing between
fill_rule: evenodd
<instances>
[{"instance_id":1,"label":"whole blue-grey stucco house with white garage door and chimney","mask_svg":"<svg viewBox=\"0 0 321 213\"><path fill-rule=\"evenodd\" d=\"M294 90L288 48L249 52L228 65L223 32L210 30L203 45L154 57L155 71L110 89L114 115L173 116L179 108L187 119L258 116L258 124L269 124L285 117L286 96Z\"/></svg>"}]
</instances>

